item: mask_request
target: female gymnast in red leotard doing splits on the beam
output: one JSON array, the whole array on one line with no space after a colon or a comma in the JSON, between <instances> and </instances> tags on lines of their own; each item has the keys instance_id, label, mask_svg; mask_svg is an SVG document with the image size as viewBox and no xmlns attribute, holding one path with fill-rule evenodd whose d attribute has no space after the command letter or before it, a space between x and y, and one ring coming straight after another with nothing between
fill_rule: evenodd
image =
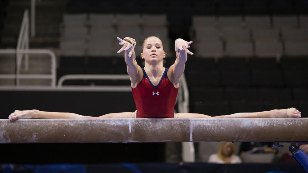
<instances>
[{"instance_id":1,"label":"female gymnast in red leotard doing splits on the beam","mask_svg":"<svg viewBox=\"0 0 308 173\"><path fill-rule=\"evenodd\" d=\"M126 37L120 41L122 48L117 52L125 52L127 73L130 77L132 93L137 110L135 112L109 113L100 117L83 116L75 113L43 112L39 110L16 110L9 119L20 118L300 118L301 112L295 108L275 109L255 113L234 113L211 117L198 113L174 113L174 105L179 89L180 78L184 72L187 53L192 41L181 38L175 40L176 60L169 69L163 66L166 53L161 40L155 36L143 42L141 58L145 67L141 68L136 61L133 38Z\"/></svg>"}]
</instances>

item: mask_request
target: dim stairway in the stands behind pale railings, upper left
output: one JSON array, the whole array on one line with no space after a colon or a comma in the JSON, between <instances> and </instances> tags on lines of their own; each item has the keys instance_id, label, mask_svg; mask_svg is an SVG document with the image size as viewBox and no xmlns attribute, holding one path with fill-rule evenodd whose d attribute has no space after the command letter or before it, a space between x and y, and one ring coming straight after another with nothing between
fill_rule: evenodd
<instances>
[{"instance_id":1,"label":"dim stairway in the stands behind pale railings, upper left","mask_svg":"<svg viewBox=\"0 0 308 173\"><path fill-rule=\"evenodd\" d=\"M35 8L35 37L30 37L30 49L50 49L59 52L60 24L66 9L66 0L40 0ZM17 46L21 22L25 9L31 14L31 0L9 1L7 15L3 20L0 48ZM30 19L31 20L31 19ZM57 56L58 57L58 56ZM25 60L22 60L20 74L50 74L51 61L49 55L30 54L29 71L24 70ZM0 55L0 74L15 74L15 55ZM51 80L23 79L20 85L50 85ZM0 79L0 86L15 85L14 79Z\"/></svg>"}]
</instances>

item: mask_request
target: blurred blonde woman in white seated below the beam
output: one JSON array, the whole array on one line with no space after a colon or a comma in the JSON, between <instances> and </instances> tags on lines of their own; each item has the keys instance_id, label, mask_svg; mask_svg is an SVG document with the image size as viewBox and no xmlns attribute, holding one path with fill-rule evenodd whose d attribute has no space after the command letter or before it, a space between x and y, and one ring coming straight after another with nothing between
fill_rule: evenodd
<instances>
[{"instance_id":1,"label":"blurred blonde woman in white seated below the beam","mask_svg":"<svg viewBox=\"0 0 308 173\"><path fill-rule=\"evenodd\" d=\"M235 144L231 142L223 142L220 144L217 153L210 155L208 163L242 163L241 158L237 155L234 155L234 153Z\"/></svg>"}]
</instances>

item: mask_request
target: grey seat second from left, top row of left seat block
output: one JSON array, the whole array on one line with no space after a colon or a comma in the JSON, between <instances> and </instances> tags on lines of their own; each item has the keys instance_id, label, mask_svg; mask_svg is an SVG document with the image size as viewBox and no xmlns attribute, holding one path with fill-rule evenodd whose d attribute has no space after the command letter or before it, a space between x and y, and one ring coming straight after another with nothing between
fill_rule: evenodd
<instances>
[{"instance_id":1,"label":"grey seat second from left, top row of left seat block","mask_svg":"<svg viewBox=\"0 0 308 173\"><path fill-rule=\"evenodd\" d=\"M115 17L112 14L90 14L89 24L91 27L111 27L115 22Z\"/></svg>"}]
</instances>

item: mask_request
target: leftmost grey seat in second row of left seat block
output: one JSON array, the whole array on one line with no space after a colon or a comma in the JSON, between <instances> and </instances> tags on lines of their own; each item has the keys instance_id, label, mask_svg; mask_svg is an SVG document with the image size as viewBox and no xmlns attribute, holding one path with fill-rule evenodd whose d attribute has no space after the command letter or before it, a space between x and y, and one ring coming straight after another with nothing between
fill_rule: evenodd
<instances>
[{"instance_id":1,"label":"leftmost grey seat in second row of left seat block","mask_svg":"<svg viewBox=\"0 0 308 173\"><path fill-rule=\"evenodd\" d=\"M85 26L66 26L61 37L64 41L85 41L88 37L88 29Z\"/></svg>"}]
</instances>

